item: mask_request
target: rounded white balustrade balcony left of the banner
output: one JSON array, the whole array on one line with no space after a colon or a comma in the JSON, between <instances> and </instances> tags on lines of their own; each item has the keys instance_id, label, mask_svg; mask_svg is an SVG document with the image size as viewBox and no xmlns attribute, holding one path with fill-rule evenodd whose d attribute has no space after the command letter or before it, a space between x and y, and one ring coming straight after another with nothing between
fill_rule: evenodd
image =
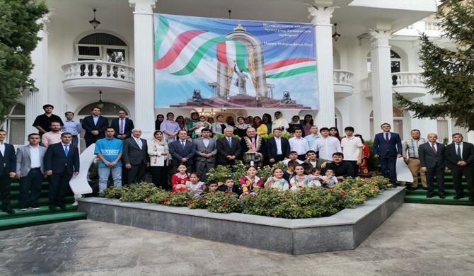
<instances>
[{"instance_id":1,"label":"rounded white balustrade balcony left of the banner","mask_svg":"<svg viewBox=\"0 0 474 276\"><path fill-rule=\"evenodd\" d=\"M113 90L133 92L135 90L134 68L115 62L81 61L62 66L62 86L67 92Z\"/></svg>"}]
</instances>

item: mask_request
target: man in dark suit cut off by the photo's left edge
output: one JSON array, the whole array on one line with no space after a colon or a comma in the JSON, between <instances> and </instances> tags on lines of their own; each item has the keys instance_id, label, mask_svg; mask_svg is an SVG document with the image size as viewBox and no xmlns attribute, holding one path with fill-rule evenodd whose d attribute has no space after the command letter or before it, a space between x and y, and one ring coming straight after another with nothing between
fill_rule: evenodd
<instances>
[{"instance_id":1,"label":"man in dark suit cut off by the photo's left edge","mask_svg":"<svg viewBox=\"0 0 474 276\"><path fill-rule=\"evenodd\" d=\"M6 131L0 130L0 194L1 211L13 214L15 211L10 207L10 185L11 178L16 176L15 148L6 144Z\"/></svg>"}]
</instances>

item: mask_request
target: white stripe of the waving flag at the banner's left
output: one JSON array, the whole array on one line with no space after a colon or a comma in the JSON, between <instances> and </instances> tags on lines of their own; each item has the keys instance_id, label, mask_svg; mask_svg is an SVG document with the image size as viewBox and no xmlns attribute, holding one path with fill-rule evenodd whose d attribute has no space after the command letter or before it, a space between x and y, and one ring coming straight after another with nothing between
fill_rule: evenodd
<instances>
[{"instance_id":1,"label":"white stripe of the waving flag at the banner's left","mask_svg":"<svg viewBox=\"0 0 474 276\"><path fill-rule=\"evenodd\" d=\"M183 32L183 30L180 31ZM173 37L176 38L177 35L178 34L175 34L173 35ZM163 68L162 70L168 73L180 71L181 69L186 67L186 64L190 61L190 59L199 47L201 47L205 42L219 37L220 35L217 35L215 33L202 33L200 35L197 35L197 37L192 38L192 40L185 46L185 48L183 49L183 51L180 52L175 61L170 64L170 66ZM168 35L166 35L164 40L167 39Z\"/></svg>"}]
</instances>

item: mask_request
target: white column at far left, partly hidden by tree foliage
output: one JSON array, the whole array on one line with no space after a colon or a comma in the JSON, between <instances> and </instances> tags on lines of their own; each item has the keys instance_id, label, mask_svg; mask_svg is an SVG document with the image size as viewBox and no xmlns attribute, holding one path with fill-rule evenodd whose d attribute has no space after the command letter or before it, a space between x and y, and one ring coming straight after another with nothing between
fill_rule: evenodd
<instances>
[{"instance_id":1,"label":"white column at far left, partly hidden by tree foliage","mask_svg":"<svg viewBox=\"0 0 474 276\"><path fill-rule=\"evenodd\" d=\"M41 38L38 41L35 50L31 52L31 61L34 64L33 70L31 71L31 79L35 80L35 88L27 89L25 93L25 141L28 134L32 132L38 132L33 127L33 122L37 115L45 113L42 110L42 105L47 103L47 91L48 91L48 37L47 23L50 22L50 13L45 17L41 18L39 23L43 24L42 30L37 33L37 36ZM57 110L60 108L57 107ZM61 117L61 115L59 115Z\"/></svg>"}]
</instances>

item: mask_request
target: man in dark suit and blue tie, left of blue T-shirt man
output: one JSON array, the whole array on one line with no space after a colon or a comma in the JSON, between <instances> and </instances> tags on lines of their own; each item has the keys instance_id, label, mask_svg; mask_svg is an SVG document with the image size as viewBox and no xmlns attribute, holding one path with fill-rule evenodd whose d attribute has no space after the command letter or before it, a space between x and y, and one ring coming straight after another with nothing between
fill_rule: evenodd
<instances>
[{"instance_id":1,"label":"man in dark suit and blue tie, left of blue T-shirt man","mask_svg":"<svg viewBox=\"0 0 474 276\"><path fill-rule=\"evenodd\" d=\"M69 132L61 134L61 142L48 146L45 153L45 175L50 176L50 211L66 209L64 197L72 175L79 175L79 149L71 144Z\"/></svg>"}]
</instances>

